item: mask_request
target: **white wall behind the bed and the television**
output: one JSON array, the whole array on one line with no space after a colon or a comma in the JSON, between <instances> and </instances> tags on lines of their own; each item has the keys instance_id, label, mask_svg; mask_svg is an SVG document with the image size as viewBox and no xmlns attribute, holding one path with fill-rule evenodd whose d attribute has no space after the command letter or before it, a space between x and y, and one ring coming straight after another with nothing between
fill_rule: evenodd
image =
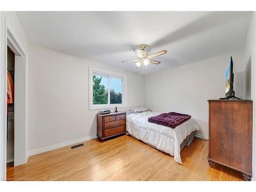
<instances>
[{"instance_id":1,"label":"white wall behind the bed and the television","mask_svg":"<svg viewBox=\"0 0 256 192\"><path fill-rule=\"evenodd\" d=\"M208 138L207 100L225 97L225 71L230 56L234 72L244 68L243 52L239 51L147 75L146 107L190 114L201 127L199 135Z\"/></svg>"}]
</instances>

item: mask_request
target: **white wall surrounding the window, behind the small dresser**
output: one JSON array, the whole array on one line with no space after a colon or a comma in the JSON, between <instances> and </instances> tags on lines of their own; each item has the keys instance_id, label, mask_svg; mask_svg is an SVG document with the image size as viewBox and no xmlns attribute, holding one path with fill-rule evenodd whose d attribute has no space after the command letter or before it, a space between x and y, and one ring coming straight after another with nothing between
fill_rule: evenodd
<instances>
[{"instance_id":1,"label":"white wall surrounding the window, behind the small dresser","mask_svg":"<svg viewBox=\"0 0 256 192\"><path fill-rule=\"evenodd\" d=\"M89 66L127 75L127 107L145 104L144 75L33 44L29 54L30 155L43 147L96 135L98 110L89 111Z\"/></svg>"}]
</instances>

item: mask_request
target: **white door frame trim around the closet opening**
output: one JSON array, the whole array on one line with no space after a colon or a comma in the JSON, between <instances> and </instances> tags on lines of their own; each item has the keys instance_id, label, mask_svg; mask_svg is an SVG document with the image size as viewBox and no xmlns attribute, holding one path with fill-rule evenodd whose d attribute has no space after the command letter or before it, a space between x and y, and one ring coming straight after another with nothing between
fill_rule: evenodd
<instances>
[{"instance_id":1,"label":"white door frame trim around the closet opening","mask_svg":"<svg viewBox=\"0 0 256 192\"><path fill-rule=\"evenodd\" d=\"M3 42L3 57L4 59L2 61L4 61L4 63L1 63L1 65L3 65L3 72L1 72L1 81L3 81L3 93L1 93L1 103L3 104L1 106L1 129L0 129L0 135L1 135L1 143L0 143L0 146L1 146L1 159L0 159L0 162L1 162L1 180L6 180L6 162L7 162L7 129L6 129L6 126L7 126L7 75L6 75L6 71L7 71L7 46L13 51L13 53L15 55L18 55L18 56L21 56L21 57L24 57L24 61L25 61L25 71L26 71L26 74L25 74L25 78L26 78L26 103L25 103L25 127L22 127L22 130L20 131L23 131L24 134L21 135L17 141L15 141L14 139L14 143L16 142L16 144L19 145L20 143L20 148L23 149L23 151L25 152L24 157L22 157L22 161L19 162L19 164L24 164L27 162L28 160L28 153L27 153L27 130L28 130L28 78L27 78L27 55L25 54L24 52L24 49L23 49L23 46L22 44L20 44L20 41L18 40L17 38L17 35L15 35L15 31L13 30L11 24L8 22L8 19L5 18L5 23L4 23L4 34L2 37L4 37L2 40L4 41ZM20 142L22 141L22 142ZM14 148L15 150L15 148ZM18 165L18 164L16 164Z\"/></svg>"}]
</instances>

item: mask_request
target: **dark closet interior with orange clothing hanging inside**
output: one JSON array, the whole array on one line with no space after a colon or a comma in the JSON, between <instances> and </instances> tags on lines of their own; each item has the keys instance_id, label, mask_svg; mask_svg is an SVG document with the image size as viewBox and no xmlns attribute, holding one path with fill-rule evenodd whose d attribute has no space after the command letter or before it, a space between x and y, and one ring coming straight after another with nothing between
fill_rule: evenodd
<instances>
[{"instance_id":1,"label":"dark closet interior with orange clothing hanging inside","mask_svg":"<svg viewBox=\"0 0 256 192\"><path fill-rule=\"evenodd\" d=\"M15 54L7 46L7 167L14 166L14 71Z\"/></svg>"}]
</instances>

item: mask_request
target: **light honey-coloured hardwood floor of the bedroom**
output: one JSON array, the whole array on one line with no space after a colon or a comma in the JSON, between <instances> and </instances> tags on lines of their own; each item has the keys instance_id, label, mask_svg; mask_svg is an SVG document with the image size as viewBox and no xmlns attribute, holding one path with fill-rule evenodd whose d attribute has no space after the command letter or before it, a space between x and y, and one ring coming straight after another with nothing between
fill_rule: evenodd
<instances>
[{"instance_id":1,"label":"light honey-coloured hardwood floor of the bedroom","mask_svg":"<svg viewBox=\"0 0 256 192\"><path fill-rule=\"evenodd\" d=\"M124 135L100 142L83 142L38 154L28 163L7 167L10 180L47 181L240 181L236 170L207 162L208 142L195 138L181 151L183 165L174 157Z\"/></svg>"}]
</instances>

